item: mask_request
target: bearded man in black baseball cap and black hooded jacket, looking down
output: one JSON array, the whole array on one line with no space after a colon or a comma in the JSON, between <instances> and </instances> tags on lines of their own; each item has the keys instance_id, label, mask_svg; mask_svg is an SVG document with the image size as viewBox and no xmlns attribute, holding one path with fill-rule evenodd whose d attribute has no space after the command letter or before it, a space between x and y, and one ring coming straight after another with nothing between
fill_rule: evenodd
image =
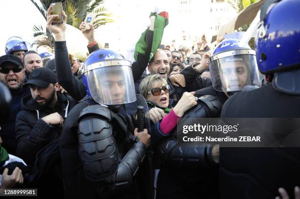
<instances>
[{"instance_id":1,"label":"bearded man in black baseball cap and black hooded jacket, looking down","mask_svg":"<svg viewBox=\"0 0 300 199\"><path fill-rule=\"evenodd\" d=\"M22 111L16 118L17 155L33 164L36 154L58 138L68 112L75 106L73 98L57 92L55 73L36 68L29 76L31 95L22 98Z\"/></svg>"}]
</instances>

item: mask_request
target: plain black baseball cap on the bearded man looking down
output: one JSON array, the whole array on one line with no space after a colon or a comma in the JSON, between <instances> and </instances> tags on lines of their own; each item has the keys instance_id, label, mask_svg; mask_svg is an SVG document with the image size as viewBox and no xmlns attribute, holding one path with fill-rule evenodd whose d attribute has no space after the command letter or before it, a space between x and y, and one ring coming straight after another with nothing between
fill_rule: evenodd
<instances>
[{"instance_id":1,"label":"plain black baseball cap on the bearded man looking down","mask_svg":"<svg viewBox=\"0 0 300 199\"><path fill-rule=\"evenodd\" d=\"M31 72L26 85L33 84L35 86L45 88L48 87L50 83L55 84L56 82L56 75L51 69L40 67Z\"/></svg>"}]
</instances>

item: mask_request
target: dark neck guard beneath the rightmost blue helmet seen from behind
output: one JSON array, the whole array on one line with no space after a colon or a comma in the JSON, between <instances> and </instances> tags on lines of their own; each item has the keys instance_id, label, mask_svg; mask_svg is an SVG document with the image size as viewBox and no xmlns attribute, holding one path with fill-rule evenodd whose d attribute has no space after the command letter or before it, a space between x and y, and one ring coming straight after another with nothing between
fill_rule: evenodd
<instances>
[{"instance_id":1,"label":"dark neck guard beneath the rightmost blue helmet seen from behind","mask_svg":"<svg viewBox=\"0 0 300 199\"><path fill-rule=\"evenodd\" d=\"M279 92L300 95L300 68L275 72L272 85Z\"/></svg>"}]
</instances>

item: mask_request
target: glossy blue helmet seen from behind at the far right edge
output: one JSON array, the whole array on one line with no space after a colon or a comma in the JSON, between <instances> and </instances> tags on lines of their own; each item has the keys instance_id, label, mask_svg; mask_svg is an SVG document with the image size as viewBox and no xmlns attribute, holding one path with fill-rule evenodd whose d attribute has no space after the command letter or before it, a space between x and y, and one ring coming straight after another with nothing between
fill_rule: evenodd
<instances>
[{"instance_id":1,"label":"glossy blue helmet seen from behind at the far right edge","mask_svg":"<svg viewBox=\"0 0 300 199\"><path fill-rule=\"evenodd\" d=\"M255 36L263 74L300 67L300 0L267 1Z\"/></svg>"}]
</instances>

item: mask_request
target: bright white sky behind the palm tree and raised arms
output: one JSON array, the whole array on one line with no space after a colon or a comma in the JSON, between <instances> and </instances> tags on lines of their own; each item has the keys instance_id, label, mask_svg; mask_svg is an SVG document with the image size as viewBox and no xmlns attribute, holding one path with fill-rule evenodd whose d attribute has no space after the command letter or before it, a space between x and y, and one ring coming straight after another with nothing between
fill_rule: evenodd
<instances>
[{"instance_id":1,"label":"bright white sky behind the palm tree and raised arms","mask_svg":"<svg viewBox=\"0 0 300 199\"><path fill-rule=\"evenodd\" d=\"M195 16L185 19L182 17L184 15L176 11L178 6L186 6L181 5L180 0L106 0L104 6L113 13L115 22L100 26L95 32L96 40L101 44L109 43L111 48L132 60L135 43L150 24L149 15L155 8L169 12L169 25L165 28L162 43L171 44L172 40L182 38L182 30L185 28L200 36L204 33L203 27L209 26L214 20L205 18L211 0L190 1L197 5L194 8L187 7L192 9ZM5 44L9 37L20 36L26 42L33 43L32 27L42 25L46 28L45 19L30 0L1 0L0 19L3 27L0 31L0 55L5 54ZM87 43L84 39L81 37L80 46ZM42 51L38 49L39 53Z\"/></svg>"}]
</instances>

